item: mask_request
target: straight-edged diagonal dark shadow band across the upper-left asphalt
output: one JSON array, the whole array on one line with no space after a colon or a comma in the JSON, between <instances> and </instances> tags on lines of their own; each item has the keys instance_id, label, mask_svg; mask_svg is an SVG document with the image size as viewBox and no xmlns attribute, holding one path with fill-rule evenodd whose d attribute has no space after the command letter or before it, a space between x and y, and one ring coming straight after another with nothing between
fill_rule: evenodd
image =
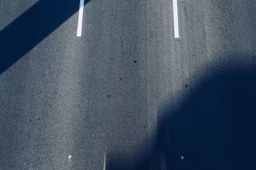
<instances>
[{"instance_id":1,"label":"straight-edged diagonal dark shadow band across the upper-left asphalt","mask_svg":"<svg viewBox=\"0 0 256 170\"><path fill-rule=\"evenodd\" d=\"M0 74L78 10L79 0L41 0L13 20L0 32Z\"/></svg>"}]
</instances>

